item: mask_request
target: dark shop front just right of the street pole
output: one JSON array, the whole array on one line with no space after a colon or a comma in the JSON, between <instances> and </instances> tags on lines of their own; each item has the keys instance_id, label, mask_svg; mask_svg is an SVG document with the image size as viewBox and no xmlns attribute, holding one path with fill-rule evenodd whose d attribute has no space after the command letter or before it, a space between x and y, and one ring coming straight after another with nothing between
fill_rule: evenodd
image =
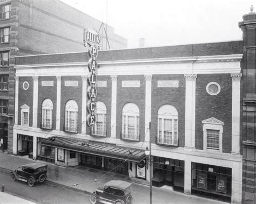
<instances>
[{"instance_id":1,"label":"dark shop front just right of the street pole","mask_svg":"<svg viewBox=\"0 0 256 204\"><path fill-rule=\"evenodd\" d=\"M154 156L152 185L167 185L176 191L184 191L184 161Z\"/></svg>"}]
</instances>

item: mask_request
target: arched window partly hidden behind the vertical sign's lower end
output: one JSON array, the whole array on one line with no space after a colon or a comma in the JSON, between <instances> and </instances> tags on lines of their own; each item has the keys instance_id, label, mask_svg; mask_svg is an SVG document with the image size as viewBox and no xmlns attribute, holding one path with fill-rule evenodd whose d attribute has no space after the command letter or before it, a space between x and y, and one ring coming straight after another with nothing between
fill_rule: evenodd
<instances>
[{"instance_id":1,"label":"arched window partly hidden behind the vertical sign's lower end","mask_svg":"<svg viewBox=\"0 0 256 204\"><path fill-rule=\"evenodd\" d=\"M96 102L96 123L92 128L93 135L106 136L106 105Z\"/></svg>"}]
</instances>

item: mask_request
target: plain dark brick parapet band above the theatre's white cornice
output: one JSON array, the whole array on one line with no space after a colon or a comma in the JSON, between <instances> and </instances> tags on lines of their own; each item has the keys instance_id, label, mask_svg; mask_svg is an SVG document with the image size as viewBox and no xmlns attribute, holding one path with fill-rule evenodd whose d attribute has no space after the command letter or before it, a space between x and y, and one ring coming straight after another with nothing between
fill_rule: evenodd
<instances>
[{"instance_id":1,"label":"plain dark brick parapet band above the theatre's white cornice","mask_svg":"<svg viewBox=\"0 0 256 204\"><path fill-rule=\"evenodd\" d=\"M242 46L242 40L238 40L218 43L99 51L97 61L100 62L242 54ZM15 65L87 62L88 60L89 55L87 52L40 54L16 57Z\"/></svg>"}]
</instances>

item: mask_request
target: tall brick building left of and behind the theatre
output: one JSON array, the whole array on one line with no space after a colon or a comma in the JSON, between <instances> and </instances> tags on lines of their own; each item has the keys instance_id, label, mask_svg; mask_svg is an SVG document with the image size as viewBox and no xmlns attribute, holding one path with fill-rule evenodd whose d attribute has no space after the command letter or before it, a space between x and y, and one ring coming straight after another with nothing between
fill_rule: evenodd
<instances>
[{"instance_id":1,"label":"tall brick building left of and behind the theatre","mask_svg":"<svg viewBox=\"0 0 256 204\"><path fill-rule=\"evenodd\" d=\"M102 22L58 0L1 0L0 7L0 139L1 149L11 153L15 55L84 52L83 29L99 29ZM127 47L127 40L111 26L107 37L111 49Z\"/></svg>"}]
</instances>

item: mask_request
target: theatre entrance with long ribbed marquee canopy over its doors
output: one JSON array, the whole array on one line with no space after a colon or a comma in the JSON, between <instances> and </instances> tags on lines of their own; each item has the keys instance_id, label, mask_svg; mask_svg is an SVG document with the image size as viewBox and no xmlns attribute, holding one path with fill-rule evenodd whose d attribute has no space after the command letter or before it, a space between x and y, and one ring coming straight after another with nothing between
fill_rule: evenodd
<instances>
[{"instance_id":1,"label":"theatre entrance with long ribbed marquee canopy over its doors","mask_svg":"<svg viewBox=\"0 0 256 204\"><path fill-rule=\"evenodd\" d=\"M37 159L61 166L81 165L129 175L129 167L145 159L145 152L113 144L78 141L62 137L41 139Z\"/></svg>"}]
</instances>

